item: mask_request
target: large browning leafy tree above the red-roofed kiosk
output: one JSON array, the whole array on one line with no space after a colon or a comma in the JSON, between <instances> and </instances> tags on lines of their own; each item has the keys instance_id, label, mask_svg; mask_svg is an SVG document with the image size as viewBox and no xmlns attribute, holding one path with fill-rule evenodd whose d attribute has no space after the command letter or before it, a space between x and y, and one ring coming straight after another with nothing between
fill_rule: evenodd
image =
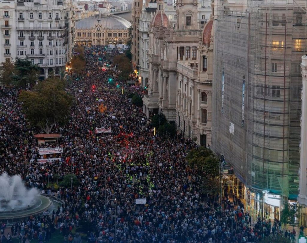
<instances>
[{"instance_id":1,"label":"large browning leafy tree above the red-roofed kiosk","mask_svg":"<svg viewBox=\"0 0 307 243\"><path fill-rule=\"evenodd\" d=\"M68 121L73 99L65 92L64 82L54 78L40 82L33 91L22 91L19 101L31 125L49 134L56 124Z\"/></svg>"}]
</instances>

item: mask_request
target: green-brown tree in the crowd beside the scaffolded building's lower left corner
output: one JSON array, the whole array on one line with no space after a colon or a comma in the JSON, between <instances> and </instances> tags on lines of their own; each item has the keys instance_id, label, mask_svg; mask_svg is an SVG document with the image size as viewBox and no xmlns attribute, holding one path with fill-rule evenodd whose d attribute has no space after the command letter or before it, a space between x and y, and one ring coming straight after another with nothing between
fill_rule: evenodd
<instances>
[{"instance_id":1,"label":"green-brown tree in the crowd beside the scaffolded building's lower left corner","mask_svg":"<svg viewBox=\"0 0 307 243\"><path fill-rule=\"evenodd\" d=\"M199 176L202 191L209 195L216 194L219 189L220 160L212 150L203 146L191 149L186 160Z\"/></svg>"}]
</instances>

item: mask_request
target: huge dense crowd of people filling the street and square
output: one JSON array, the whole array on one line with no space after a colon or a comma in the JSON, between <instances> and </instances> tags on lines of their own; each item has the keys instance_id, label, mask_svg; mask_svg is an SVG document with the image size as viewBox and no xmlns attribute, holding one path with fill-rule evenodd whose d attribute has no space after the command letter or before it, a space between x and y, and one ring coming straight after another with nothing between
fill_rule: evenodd
<instances>
[{"instance_id":1,"label":"huge dense crowd of people filling the street and square","mask_svg":"<svg viewBox=\"0 0 307 243\"><path fill-rule=\"evenodd\" d=\"M48 242L58 228L63 242L80 243L80 235L72 234L78 227L88 242L241 243L283 234L275 223L272 227L259 220L252 226L239 199L226 198L221 207L200 193L199 180L185 160L195 143L153 135L142 108L128 96L145 90L124 82L117 89L108 82L110 75L118 81L117 72L102 70L102 62L111 64L116 54L113 50L107 59L104 48L85 48L86 69L67 90L76 100L70 121L52 130L61 134L55 144L45 145L63 148L60 161L38 161L34 134L41 131L26 122L14 89L1 87L0 174L18 174L27 187L46 194L48 179L54 181L56 175L75 174L80 182L72 190L56 190L63 205L16 223L10 236ZM96 133L96 127L111 128L111 133ZM136 199L146 202L136 204Z\"/></svg>"}]
</instances>

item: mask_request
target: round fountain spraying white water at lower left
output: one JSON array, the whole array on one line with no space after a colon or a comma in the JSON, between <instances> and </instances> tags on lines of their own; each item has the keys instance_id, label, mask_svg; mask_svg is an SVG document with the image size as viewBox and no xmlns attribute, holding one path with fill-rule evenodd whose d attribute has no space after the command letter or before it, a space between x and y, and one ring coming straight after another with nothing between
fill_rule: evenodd
<instances>
[{"instance_id":1,"label":"round fountain spraying white water at lower left","mask_svg":"<svg viewBox=\"0 0 307 243\"><path fill-rule=\"evenodd\" d=\"M51 201L39 195L37 189L28 190L19 175L0 176L0 219L22 218L38 214L48 208Z\"/></svg>"}]
</instances>

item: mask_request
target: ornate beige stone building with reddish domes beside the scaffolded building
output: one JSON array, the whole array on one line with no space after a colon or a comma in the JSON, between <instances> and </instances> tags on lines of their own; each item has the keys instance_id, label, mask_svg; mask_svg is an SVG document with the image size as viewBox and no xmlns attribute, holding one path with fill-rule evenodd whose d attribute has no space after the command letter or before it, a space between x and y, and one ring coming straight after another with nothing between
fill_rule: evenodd
<instances>
[{"instance_id":1,"label":"ornate beige stone building with reddish domes beside the scaffolded building","mask_svg":"<svg viewBox=\"0 0 307 243\"><path fill-rule=\"evenodd\" d=\"M198 144L211 144L213 20L200 29L195 0L176 4L175 28L157 2L150 24L147 116L163 113Z\"/></svg>"}]
</instances>

